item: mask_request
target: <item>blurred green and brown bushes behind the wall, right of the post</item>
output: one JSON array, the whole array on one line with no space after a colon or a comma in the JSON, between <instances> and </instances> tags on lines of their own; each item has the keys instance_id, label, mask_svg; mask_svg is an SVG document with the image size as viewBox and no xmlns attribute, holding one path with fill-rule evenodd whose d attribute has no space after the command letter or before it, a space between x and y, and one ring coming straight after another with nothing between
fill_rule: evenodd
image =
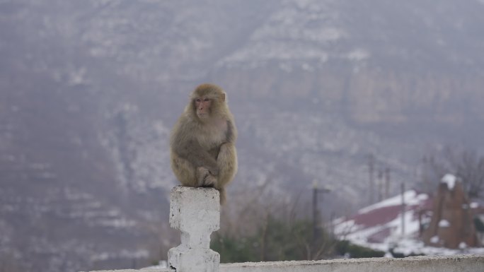
<instances>
[{"instance_id":1,"label":"blurred green and brown bushes behind the wall, right of the post","mask_svg":"<svg viewBox=\"0 0 484 272\"><path fill-rule=\"evenodd\" d=\"M304 201L303 195L293 197L273 193L269 184L270 179L267 179L257 187L246 186L237 194L231 194L231 201L222 209L223 223L218 237L235 240L238 247L250 241L248 246L255 252L250 257L255 259L244 261L333 256L335 240L323 230L323 223L319 226L321 235L313 237L310 203ZM306 193L311 194L309 190Z\"/></svg>"}]
</instances>

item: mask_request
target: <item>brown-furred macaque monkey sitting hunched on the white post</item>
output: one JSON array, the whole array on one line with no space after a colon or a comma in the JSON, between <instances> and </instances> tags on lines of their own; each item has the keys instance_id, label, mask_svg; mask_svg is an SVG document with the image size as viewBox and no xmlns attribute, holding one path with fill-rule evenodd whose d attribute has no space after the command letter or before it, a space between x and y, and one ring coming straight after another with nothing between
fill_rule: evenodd
<instances>
[{"instance_id":1,"label":"brown-furred macaque monkey sitting hunched on the white post","mask_svg":"<svg viewBox=\"0 0 484 272\"><path fill-rule=\"evenodd\" d=\"M171 169L183 186L224 187L237 172L237 130L224 90L199 85L171 131Z\"/></svg>"}]
</instances>

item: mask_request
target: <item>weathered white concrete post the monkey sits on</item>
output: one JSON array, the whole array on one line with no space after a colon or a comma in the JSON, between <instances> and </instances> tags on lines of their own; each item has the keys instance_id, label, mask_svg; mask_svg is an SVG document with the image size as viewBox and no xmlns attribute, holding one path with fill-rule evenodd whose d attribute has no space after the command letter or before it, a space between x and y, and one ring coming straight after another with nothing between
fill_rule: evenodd
<instances>
[{"instance_id":1,"label":"weathered white concrete post the monkey sits on","mask_svg":"<svg viewBox=\"0 0 484 272\"><path fill-rule=\"evenodd\" d=\"M181 244L168 250L177 272L218 272L220 255L210 235L220 227L219 191L177 186L170 193L170 226L181 231Z\"/></svg>"}]
</instances>

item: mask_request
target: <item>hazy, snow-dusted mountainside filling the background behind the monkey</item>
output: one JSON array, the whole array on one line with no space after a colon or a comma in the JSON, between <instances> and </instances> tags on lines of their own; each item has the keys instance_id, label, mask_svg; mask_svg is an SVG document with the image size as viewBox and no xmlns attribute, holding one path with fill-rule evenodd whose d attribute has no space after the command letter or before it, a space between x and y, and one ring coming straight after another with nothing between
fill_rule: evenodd
<instances>
[{"instance_id":1,"label":"hazy, snow-dusted mountainside filling the background behind the monkey","mask_svg":"<svg viewBox=\"0 0 484 272\"><path fill-rule=\"evenodd\" d=\"M482 150L483 11L477 0L1 1L0 263L164 258L178 239L168 134L204 81L226 89L240 134L229 197L263 187L305 199L316 180L333 189L321 210L342 213L369 201L370 155L395 192L417 182L428 150Z\"/></svg>"}]
</instances>

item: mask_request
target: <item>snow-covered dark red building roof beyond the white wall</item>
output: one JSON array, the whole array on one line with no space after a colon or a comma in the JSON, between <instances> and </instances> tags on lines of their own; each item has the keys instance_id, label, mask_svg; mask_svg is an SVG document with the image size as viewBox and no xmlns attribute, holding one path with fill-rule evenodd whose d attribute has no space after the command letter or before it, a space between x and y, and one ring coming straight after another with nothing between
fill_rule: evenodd
<instances>
[{"instance_id":1,"label":"snow-covered dark red building roof beyond the white wall","mask_svg":"<svg viewBox=\"0 0 484 272\"><path fill-rule=\"evenodd\" d=\"M462 254L425 247L420 241L421 225L430 222L433 198L414 189L360 209L355 215L333 221L335 235L364 247L389 252L400 247L407 254ZM476 209L478 203L473 203ZM403 214L403 215L402 215ZM420 219L419 219L420 218ZM403 248L404 247L404 248ZM484 249L478 249L484 254Z\"/></svg>"}]
</instances>

